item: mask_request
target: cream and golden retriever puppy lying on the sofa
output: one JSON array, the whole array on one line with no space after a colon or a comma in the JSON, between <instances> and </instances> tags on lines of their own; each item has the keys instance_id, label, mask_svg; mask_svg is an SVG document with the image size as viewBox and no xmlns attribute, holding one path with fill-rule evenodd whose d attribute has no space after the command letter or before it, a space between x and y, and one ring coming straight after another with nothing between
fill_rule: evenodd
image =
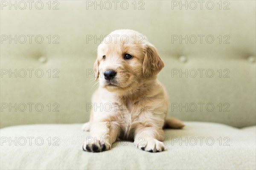
<instances>
[{"instance_id":1,"label":"cream and golden retriever puppy lying on the sofa","mask_svg":"<svg viewBox=\"0 0 256 170\"><path fill-rule=\"evenodd\" d=\"M92 97L90 131L83 150L102 152L117 139L134 140L148 152L164 150L163 127L182 128L178 119L166 118L168 97L157 74L164 67L156 48L133 30L116 30L98 46L94 63L99 88Z\"/></svg>"}]
</instances>

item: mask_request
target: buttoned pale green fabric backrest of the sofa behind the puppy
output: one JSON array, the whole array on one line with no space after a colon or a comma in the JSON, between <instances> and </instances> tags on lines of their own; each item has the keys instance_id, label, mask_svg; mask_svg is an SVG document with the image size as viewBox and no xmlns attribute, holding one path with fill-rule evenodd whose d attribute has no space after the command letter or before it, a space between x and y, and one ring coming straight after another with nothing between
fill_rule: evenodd
<instances>
[{"instance_id":1,"label":"buttoned pale green fabric backrest of the sofa behind the puppy","mask_svg":"<svg viewBox=\"0 0 256 170\"><path fill-rule=\"evenodd\" d=\"M206 3L202 9L198 3L195 10L185 7L180 10L172 1L154 0L143 1L144 5L137 1L134 10L133 1L127 2L127 10L120 8L120 3L116 10L113 4L109 10L99 7L95 10L81 0L58 1L50 10L46 1L41 10L35 4L31 10L29 4L24 10L14 7L9 10L9 6L4 6L0 16L1 35L11 38L17 35L17 39L24 35L26 42L20 43L23 36L17 43L1 37L1 127L87 122L90 112L87 104L96 88L90 71L100 43L100 40L94 42L94 35L104 37L121 28L145 34L163 58L165 68L158 77L169 94L169 116L233 127L256 124L255 1L232 0L229 5L222 3L221 9L217 1L212 1L211 10ZM52 10L56 5L59 9ZM141 5L144 9L138 10ZM224 10L227 5L230 9ZM34 36L31 43L29 35ZM37 35L44 38L41 44L35 41ZM93 40L89 41L88 35ZM188 42L174 40L180 35L181 38L187 35ZM204 35L202 43L201 35ZM208 35L211 36L206 40ZM195 37L197 42L193 43ZM209 43L211 37L214 42ZM15 74L9 75L15 69L17 78ZM31 77L27 69L34 69ZM186 69L187 77L180 76ZM202 77L198 69L204 69ZM193 78L195 71L197 76ZM44 75L36 77L41 72Z\"/></svg>"}]
</instances>

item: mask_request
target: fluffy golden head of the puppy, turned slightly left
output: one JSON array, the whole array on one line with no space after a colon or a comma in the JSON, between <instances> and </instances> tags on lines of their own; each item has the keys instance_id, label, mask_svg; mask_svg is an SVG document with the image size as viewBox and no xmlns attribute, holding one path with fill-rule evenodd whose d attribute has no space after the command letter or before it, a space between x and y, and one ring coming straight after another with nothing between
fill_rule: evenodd
<instances>
[{"instance_id":1,"label":"fluffy golden head of the puppy, turned slightly left","mask_svg":"<svg viewBox=\"0 0 256 170\"><path fill-rule=\"evenodd\" d=\"M164 67L156 48L133 30L116 30L98 46L94 62L96 80L108 91L130 91Z\"/></svg>"}]
</instances>

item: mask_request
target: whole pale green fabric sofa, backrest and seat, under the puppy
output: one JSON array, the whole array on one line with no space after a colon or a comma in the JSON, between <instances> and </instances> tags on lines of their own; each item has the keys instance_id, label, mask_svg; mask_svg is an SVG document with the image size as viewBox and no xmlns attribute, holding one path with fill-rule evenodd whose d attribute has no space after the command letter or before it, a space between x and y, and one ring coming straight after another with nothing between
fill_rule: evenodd
<instances>
[{"instance_id":1,"label":"whole pale green fabric sofa, backrest and seat, under the puppy","mask_svg":"<svg viewBox=\"0 0 256 170\"><path fill-rule=\"evenodd\" d=\"M0 3L1 170L256 169L256 1ZM81 147L96 48L122 28L157 48L168 116L186 125L161 153Z\"/></svg>"}]
</instances>

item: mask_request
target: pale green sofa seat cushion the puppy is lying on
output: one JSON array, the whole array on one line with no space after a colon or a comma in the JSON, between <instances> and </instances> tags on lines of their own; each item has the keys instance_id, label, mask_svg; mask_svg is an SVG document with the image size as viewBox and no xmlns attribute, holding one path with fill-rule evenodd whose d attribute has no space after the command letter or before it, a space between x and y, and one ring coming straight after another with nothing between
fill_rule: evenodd
<instances>
[{"instance_id":1,"label":"pale green sofa seat cushion the puppy is lying on","mask_svg":"<svg viewBox=\"0 0 256 170\"><path fill-rule=\"evenodd\" d=\"M255 169L256 134L223 124L185 122L165 130L166 150L149 153L133 142L89 153L81 124L21 125L0 129L0 169Z\"/></svg>"}]
</instances>

